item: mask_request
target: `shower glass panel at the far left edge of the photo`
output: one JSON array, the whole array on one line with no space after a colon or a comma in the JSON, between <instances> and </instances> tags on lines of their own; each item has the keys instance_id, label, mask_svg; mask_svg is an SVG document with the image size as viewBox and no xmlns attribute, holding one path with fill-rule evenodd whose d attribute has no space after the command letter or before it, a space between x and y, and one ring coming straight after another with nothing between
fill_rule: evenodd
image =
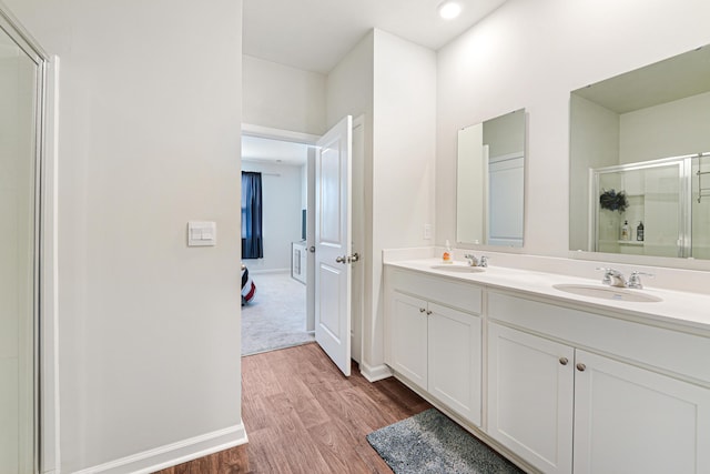
<instances>
[{"instance_id":1,"label":"shower glass panel at the far left edge of the photo","mask_svg":"<svg viewBox=\"0 0 710 474\"><path fill-rule=\"evenodd\" d=\"M0 24L0 472L34 473L38 64Z\"/></svg>"}]
</instances>

